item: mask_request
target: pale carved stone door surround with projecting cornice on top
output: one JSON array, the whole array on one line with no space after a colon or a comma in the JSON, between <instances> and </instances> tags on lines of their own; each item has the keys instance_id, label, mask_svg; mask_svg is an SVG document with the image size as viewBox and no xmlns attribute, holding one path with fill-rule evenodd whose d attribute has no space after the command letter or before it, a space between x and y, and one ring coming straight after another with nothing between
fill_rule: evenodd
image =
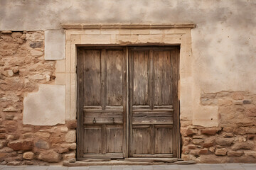
<instances>
[{"instance_id":1,"label":"pale carved stone door surround with projecting cornice on top","mask_svg":"<svg viewBox=\"0 0 256 170\"><path fill-rule=\"evenodd\" d=\"M192 121L192 51L191 29L193 23L63 23L65 30L65 59L55 65L55 84L65 85L65 120L77 120L77 47L115 45L180 45L178 100L181 125ZM79 120L78 120L79 121ZM179 131L179 129L178 129ZM78 130L77 130L78 132ZM181 145L180 137L179 146ZM79 157L80 151L77 151ZM178 150L177 157L181 157Z\"/></svg>"}]
</instances>

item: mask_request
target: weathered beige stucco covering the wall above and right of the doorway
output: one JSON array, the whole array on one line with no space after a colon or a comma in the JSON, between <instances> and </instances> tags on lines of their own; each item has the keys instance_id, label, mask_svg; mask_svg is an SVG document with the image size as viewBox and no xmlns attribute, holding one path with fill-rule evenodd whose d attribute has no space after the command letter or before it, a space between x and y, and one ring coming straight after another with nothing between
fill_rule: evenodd
<instances>
[{"instance_id":1,"label":"weathered beige stucco covering the wall above and right of the doorway","mask_svg":"<svg viewBox=\"0 0 256 170\"><path fill-rule=\"evenodd\" d=\"M0 30L59 30L60 23L196 23L192 30L194 125L217 126L218 108L202 93L256 92L255 1L0 1ZM64 37L64 34L63 34ZM60 38L60 37L58 37ZM60 38L61 40L61 38ZM46 59L63 58L49 41ZM60 54L56 54L59 51ZM47 54L53 54L47 55ZM185 101L181 99L181 106ZM184 98L186 100L186 98ZM208 115L208 116L207 116ZM203 118L203 119L202 119Z\"/></svg>"}]
</instances>

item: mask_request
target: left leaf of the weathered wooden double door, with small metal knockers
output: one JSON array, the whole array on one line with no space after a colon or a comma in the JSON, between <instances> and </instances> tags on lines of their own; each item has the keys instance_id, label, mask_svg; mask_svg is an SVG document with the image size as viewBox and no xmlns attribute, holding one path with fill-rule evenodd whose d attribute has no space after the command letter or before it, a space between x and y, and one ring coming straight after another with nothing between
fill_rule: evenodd
<instances>
[{"instance_id":1,"label":"left leaf of the weathered wooden double door, with small metal knockers","mask_svg":"<svg viewBox=\"0 0 256 170\"><path fill-rule=\"evenodd\" d=\"M126 132L123 48L78 48L78 158L122 158Z\"/></svg>"}]
</instances>

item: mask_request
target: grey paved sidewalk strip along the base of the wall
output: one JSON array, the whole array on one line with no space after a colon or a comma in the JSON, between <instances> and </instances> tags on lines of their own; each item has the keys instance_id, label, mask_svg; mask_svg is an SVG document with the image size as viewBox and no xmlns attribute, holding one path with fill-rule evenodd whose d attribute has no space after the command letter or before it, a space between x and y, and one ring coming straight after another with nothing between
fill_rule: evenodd
<instances>
[{"instance_id":1,"label":"grey paved sidewalk strip along the base of the wall","mask_svg":"<svg viewBox=\"0 0 256 170\"><path fill-rule=\"evenodd\" d=\"M0 170L256 170L256 164L190 164L150 166L0 166Z\"/></svg>"}]
</instances>

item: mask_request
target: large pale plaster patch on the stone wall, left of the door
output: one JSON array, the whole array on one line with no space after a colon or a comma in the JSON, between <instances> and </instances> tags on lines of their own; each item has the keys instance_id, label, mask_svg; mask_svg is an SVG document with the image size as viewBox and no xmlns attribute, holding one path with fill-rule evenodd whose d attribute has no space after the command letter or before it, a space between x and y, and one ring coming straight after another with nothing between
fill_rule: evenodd
<instances>
[{"instance_id":1,"label":"large pale plaster patch on the stone wall, left of the door","mask_svg":"<svg viewBox=\"0 0 256 170\"><path fill-rule=\"evenodd\" d=\"M24 98L23 106L23 124L64 124L65 86L41 84L36 93Z\"/></svg>"}]
</instances>

